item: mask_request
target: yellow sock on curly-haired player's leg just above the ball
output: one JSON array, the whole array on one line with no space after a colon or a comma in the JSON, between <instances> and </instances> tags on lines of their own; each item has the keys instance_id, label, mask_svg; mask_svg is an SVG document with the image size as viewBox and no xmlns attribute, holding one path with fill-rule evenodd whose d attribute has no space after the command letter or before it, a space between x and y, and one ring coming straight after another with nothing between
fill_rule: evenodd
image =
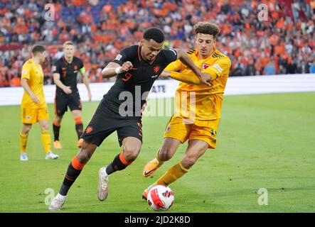
<instances>
[{"instance_id":1,"label":"yellow sock on curly-haired player's leg just above the ball","mask_svg":"<svg viewBox=\"0 0 315 227\"><path fill-rule=\"evenodd\" d=\"M178 162L176 165L173 165L167 172L160 177L156 182L154 182L154 186L157 184L169 185L175 182L177 179L183 177L189 170L181 165L181 162Z\"/></svg>"}]
</instances>

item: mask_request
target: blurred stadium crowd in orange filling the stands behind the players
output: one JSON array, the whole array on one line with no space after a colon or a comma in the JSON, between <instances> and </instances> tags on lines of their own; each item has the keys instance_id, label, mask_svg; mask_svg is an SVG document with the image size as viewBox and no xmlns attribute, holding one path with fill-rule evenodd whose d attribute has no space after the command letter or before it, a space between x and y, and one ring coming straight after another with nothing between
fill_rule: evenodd
<instances>
[{"instance_id":1,"label":"blurred stadium crowd in orange filling the stands behind the players","mask_svg":"<svg viewBox=\"0 0 315 227\"><path fill-rule=\"evenodd\" d=\"M46 45L45 83L51 63L72 40L90 82L104 82L102 68L125 46L139 43L149 26L166 34L167 48L194 46L193 25L220 26L217 48L232 60L231 76L315 73L315 0L72 0L0 1L0 87L20 86L21 66L34 43ZM51 9L51 8L50 8ZM265 21L265 17L267 21ZM80 78L78 78L80 79Z\"/></svg>"}]
</instances>

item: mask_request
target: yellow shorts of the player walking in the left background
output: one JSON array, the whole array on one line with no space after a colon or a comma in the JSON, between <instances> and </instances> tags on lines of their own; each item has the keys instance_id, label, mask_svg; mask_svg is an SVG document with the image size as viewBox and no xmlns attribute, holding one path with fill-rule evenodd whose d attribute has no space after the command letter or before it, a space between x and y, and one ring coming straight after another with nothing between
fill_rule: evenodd
<instances>
[{"instance_id":1,"label":"yellow shorts of the player walking in the left background","mask_svg":"<svg viewBox=\"0 0 315 227\"><path fill-rule=\"evenodd\" d=\"M48 120L48 108L31 109L21 106L22 123L37 123L39 120Z\"/></svg>"}]
</instances>

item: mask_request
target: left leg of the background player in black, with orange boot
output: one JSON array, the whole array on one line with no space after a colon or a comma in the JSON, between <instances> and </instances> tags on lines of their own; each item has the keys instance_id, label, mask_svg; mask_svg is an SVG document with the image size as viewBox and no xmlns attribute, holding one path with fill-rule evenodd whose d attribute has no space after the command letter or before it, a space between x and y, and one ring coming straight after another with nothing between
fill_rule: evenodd
<instances>
[{"instance_id":1,"label":"left leg of the background player in black, with orange boot","mask_svg":"<svg viewBox=\"0 0 315 227\"><path fill-rule=\"evenodd\" d=\"M60 143L59 135L61 128L61 121L63 119L63 115L65 111L68 109L68 98L64 95L56 95L55 96L55 119L53 120L53 146L55 149L62 149L63 146Z\"/></svg>"}]
</instances>

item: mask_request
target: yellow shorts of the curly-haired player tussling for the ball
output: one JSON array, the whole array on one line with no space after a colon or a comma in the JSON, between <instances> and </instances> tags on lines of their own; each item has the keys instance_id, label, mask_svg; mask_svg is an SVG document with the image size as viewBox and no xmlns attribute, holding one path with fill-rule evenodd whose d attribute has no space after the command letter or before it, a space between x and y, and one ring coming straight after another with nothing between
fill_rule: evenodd
<instances>
[{"instance_id":1,"label":"yellow shorts of the curly-haired player tussling for the ball","mask_svg":"<svg viewBox=\"0 0 315 227\"><path fill-rule=\"evenodd\" d=\"M166 126L164 138L175 138L181 140L181 143L186 140L203 140L208 143L210 149L215 149L219 121L220 119L196 120L194 123L187 123L185 118L173 115Z\"/></svg>"}]
</instances>

